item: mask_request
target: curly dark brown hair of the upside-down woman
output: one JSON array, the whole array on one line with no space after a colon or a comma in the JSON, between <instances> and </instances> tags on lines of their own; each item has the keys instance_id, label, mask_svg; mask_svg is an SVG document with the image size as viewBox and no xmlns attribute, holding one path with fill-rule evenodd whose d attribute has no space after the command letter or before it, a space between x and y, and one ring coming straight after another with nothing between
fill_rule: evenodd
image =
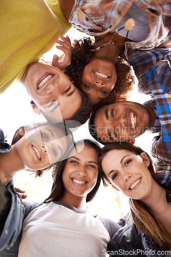
<instances>
[{"instance_id":1,"label":"curly dark brown hair of the upside-down woman","mask_svg":"<svg viewBox=\"0 0 171 257\"><path fill-rule=\"evenodd\" d=\"M94 52L95 44L91 38L83 38L81 40L74 40L72 46L71 64L66 68L67 75L74 80L74 84L80 88L82 83L81 77L84 67L91 61ZM117 81L115 87L112 89L108 97L100 103L108 101L113 102L119 97L128 97L133 89L135 77L129 63L118 57L115 63L117 71Z\"/></svg>"}]
</instances>

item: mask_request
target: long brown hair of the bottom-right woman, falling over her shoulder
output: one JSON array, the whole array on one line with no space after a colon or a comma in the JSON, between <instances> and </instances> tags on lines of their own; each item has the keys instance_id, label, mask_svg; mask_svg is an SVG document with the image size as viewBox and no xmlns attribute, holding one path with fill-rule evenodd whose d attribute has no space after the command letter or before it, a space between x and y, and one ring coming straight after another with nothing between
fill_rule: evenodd
<instances>
[{"instance_id":1,"label":"long brown hair of the bottom-right woman, falling over her shoulder","mask_svg":"<svg viewBox=\"0 0 171 257\"><path fill-rule=\"evenodd\" d=\"M108 183L111 183L109 178L104 174L101 162L105 155L111 150L128 150L136 155L140 155L144 151L136 145L130 143L113 143L105 145L101 149L101 156L99 158L99 167L102 176L103 185L107 186ZM152 177L158 182L157 176L155 173L153 161L151 157L146 153L150 164L148 166L148 170L151 173ZM159 182L158 182L159 183ZM142 231L145 235L147 235L150 240L155 241L160 247L164 247L166 249L171 247L171 235L163 226L160 219L155 216L155 213L142 203L140 200L129 198L130 203L130 212L133 220L133 224L136 225L138 231Z\"/></svg>"}]
</instances>

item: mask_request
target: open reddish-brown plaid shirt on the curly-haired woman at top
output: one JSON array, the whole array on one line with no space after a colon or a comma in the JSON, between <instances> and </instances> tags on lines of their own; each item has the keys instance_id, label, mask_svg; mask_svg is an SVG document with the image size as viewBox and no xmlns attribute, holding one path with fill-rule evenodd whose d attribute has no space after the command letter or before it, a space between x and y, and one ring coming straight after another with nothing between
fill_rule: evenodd
<instances>
[{"instance_id":1,"label":"open reddish-brown plaid shirt on the curly-haired woman at top","mask_svg":"<svg viewBox=\"0 0 171 257\"><path fill-rule=\"evenodd\" d=\"M170 0L77 0L69 22L89 35L104 35L114 31L133 3L148 12L150 33L142 42L126 42L127 54L159 46L171 30L171 19L167 17L171 15Z\"/></svg>"}]
</instances>

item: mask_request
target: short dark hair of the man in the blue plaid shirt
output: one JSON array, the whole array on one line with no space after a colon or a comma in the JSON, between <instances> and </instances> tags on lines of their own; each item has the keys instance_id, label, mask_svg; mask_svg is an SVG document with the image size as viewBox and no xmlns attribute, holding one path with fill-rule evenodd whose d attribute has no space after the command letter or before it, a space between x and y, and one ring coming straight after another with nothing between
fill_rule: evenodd
<instances>
[{"instance_id":1,"label":"short dark hair of the man in the blue plaid shirt","mask_svg":"<svg viewBox=\"0 0 171 257\"><path fill-rule=\"evenodd\" d=\"M100 138L99 138L99 136L98 136L97 133L96 133L96 128L95 128L95 124L94 124L94 119L95 119L96 113L97 113L97 111L98 111L99 109L101 109L101 108L104 107L104 106L113 104L113 103L115 103L115 102L104 102L104 103L98 105L98 106L94 109L94 111L93 111L93 113L91 114L90 119L89 119L89 132L90 132L91 136L92 136L96 141L98 141L98 142L101 143L101 144L105 144L105 142L101 141Z\"/></svg>"}]
</instances>

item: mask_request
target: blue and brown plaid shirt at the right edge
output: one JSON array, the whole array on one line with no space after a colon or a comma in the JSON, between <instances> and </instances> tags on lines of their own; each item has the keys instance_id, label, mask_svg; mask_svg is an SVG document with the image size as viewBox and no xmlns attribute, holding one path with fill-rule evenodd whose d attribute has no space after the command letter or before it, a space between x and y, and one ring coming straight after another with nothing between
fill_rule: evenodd
<instances>
[{"instance_id":1,"label":"blue and brown plaid shirt at the right edge","mask_svg":"<svg viewBox=\"0 0 171 257\"><path fill-rule=\"evenodd\" d=\"M145 104L156 114L152 132L160 132L160 137L152 142L152 155L157 158L160 182L168 185L171 183L171 51L167 47L139 51L127 61L139 80L139 91L152 96Z\"/></svg>"}]
</instances>

